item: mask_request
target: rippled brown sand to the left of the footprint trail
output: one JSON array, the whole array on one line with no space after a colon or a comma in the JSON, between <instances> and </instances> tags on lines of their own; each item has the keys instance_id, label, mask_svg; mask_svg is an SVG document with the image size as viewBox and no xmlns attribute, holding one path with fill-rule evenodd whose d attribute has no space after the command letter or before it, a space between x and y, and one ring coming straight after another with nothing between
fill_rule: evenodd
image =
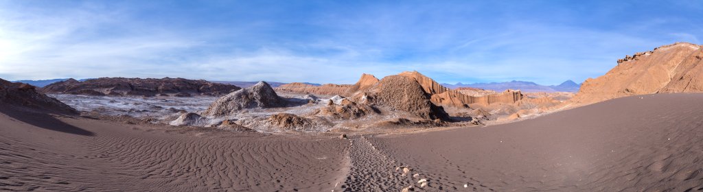
<instances>
[{"instance_id":1,"label":"rippled brown sand to the left of the footprint trail","mask_svg":"<svg viewBox=\"0 0 703 192\"><path fill-rule=\"evenodd\" d=\"M329 191L349 146L33 117L0 114L0 191Z\"/></svg>"}]
</instances>

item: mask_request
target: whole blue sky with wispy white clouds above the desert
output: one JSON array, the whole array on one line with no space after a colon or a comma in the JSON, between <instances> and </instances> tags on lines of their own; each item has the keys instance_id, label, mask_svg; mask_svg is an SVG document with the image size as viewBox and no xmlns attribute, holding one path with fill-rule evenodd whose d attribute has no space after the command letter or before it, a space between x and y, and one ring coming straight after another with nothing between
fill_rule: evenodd
<instances>
[{"instance_id":1,"label":"whole blue sky with wispy white clouds above the desert","mask_svg":"<svg viewBox=\"0 0 703 192\"><path fill-rule=\"evenodd\" d=\"M0 78L559 84L701 44L703 1L1 1Z\"/></svg>"}]
</instances>

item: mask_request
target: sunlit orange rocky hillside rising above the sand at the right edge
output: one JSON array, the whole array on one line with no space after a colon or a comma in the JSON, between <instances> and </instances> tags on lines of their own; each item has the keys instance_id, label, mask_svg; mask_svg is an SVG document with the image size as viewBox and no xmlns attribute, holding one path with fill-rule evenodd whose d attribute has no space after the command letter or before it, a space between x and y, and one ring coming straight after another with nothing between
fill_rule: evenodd
<instances>
[{"instance_id":1,"label":"sunlit orange rocky hillside rising above the sand at the right edge","mask_svg":"<svg viewBox=\"0 0 703 192\"><path fill-rule=\"evenodd\" d=\"M586 79L572 101L596 103L655 93L703 92L703 47L676 43L618 60L605 75Z\"/></svg>"}]
</instances>

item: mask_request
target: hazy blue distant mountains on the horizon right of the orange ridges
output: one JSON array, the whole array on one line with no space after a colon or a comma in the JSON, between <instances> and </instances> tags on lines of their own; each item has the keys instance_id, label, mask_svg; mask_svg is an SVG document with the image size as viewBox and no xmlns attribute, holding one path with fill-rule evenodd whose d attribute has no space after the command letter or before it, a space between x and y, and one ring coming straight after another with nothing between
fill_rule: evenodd
<instances>
[{"instance_id":1,"label":"hazy blue distant mountains on the horizon right of the orange ridges","mask_svg":"<svg viewBox=\"0 0 703 192\"><path fill-rule=\"evenodd\" d=\"M449 87L450 89L456 89L459 87L473 87L479 89L493 90L502 92L506 89L517 89L523 92L576 92L579 91L581 87L580 84L572 80L567 80L559 85L541 85L534 82L522 82L522 81L512 81L512 82L492 82L492 83L475 83L475 84L441 84L444 87Z\"/></svg>"}]
</instances>

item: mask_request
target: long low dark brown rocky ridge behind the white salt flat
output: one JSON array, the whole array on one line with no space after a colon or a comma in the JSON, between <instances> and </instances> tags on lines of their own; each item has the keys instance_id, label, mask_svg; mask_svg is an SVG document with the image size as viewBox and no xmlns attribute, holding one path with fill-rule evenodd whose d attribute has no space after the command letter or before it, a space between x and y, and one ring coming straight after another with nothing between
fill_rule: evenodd
<instances>
[{"instance_id":1,"label":"long low dark brown rocky ridge behind the white salt flat","mask_svg":"<svg viewBox=\"0 0 703 192\"><path fill-rule=\"evenodd\" d=\"M192 96L221 95L240 89L231 84L183 78L140 79L103 77L79 82L67 79L41 89L44 94L79 94L93 96Z\"/></svg>"}]
</instances>

